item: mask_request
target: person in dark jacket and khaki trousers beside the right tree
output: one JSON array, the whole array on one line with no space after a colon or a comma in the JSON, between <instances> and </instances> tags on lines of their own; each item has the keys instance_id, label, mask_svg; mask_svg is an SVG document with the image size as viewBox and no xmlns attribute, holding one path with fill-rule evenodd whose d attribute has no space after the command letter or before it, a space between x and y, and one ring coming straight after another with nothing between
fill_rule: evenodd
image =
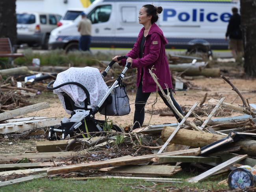
<instances>
[{"instance_id":1,"label":"person in dark jacket and khaki trousers beside the right tree","mask_svg":"<svg viewBox=\"0 0 256 192\"><path fill-rule=\"evenodd\" d=\"M240 29L241 17L236 7L232 8L232 13L233 15L230 17L226 31L226 40L229 37L229 49L233 57L237 58L243 55L243 37Z\"/></svg>"}]
</instances>

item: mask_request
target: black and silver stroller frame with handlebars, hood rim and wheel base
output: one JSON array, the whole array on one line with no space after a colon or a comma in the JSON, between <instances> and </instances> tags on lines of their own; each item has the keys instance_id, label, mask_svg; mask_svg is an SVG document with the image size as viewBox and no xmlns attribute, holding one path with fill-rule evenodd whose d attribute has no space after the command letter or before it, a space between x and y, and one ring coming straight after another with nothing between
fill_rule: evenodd
<instances>
[{"instance_id":1,"label":"black and silver stroller frame with handlebars, hood rim and wheel base","mask_svg":"<svg viewBox=\"0 0 256 192\"><path fill-rule=\"evenodd\" d=\"M121 59L127 59L127 58L128 57L126 57L126 56L121 56L121 57L118 57L117 60L120 61ZM102 78L107 76L108 70L114 65L114 63L115 63L115 61L111 61L109 63L108 67L101 74ZM99 120L95 119L95 114L100 111L102 106L104 106L104 104L106 103L106 101L107 101L108 97L110 96L111 92L113 91L115 86L117 84L119 84L121 82L121 80L124 78L124 74L128 70L128 68L130 68L130 66L131 66L131 63L127 63L126 62L126 65L125 65L124 69L122 70L121 74L118 76L118 78L115 80L113 85L109 88L109 90L106 93L106 95L104 96L104 98L102 98L102 100L100 101L100 103L98 103L98 105L95 107L94 110L91 108L91 101L90 101L89 91L82 84L80 84L78 82L66 82L66 83L62 83L61 85L58 85L57 87L50 87L55 81L52 81L52 82L48 83L47 89L49 89L49 90L55 90L55 89L58 89L60 87L65 86L65 85L77 85L78 87L81 87L82 90L85 92L85 95L87 97L84 100L84 104L85 104L84 109L89 110L89 114L87 116L85 116L85 118L80 120L80 122L74 122L74 124L70 128L69 127L65 127L65 126L63 127L61 125L58 126L57 128L55 128L54 126L50 126L49 135L48 135L47 139L48 140L59 140L60 138L58 138L56 132L62 133L62 138L61 139L69 138L70 135L72 136L74 134L74 132L78 131L78 127L80 127L83 124L86 124L86 121L92 122L93 125L96 126L96 128L98 129L99 132L102 131L102 128L99 125ZM82 108L81 107L77 107L77 109L82 109ZM72 116L72 114L71 114L71 116ZM114 128L117 131L121 131L121 129L119 127L117 128L117 126L114 126Z\"/></svg>"}]
</instances>

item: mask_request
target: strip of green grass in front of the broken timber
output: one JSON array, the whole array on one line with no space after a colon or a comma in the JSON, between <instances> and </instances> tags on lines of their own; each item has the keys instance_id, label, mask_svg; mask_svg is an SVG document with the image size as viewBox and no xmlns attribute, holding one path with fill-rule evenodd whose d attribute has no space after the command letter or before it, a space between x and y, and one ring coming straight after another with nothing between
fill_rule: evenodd
<instances>
[{"instance_id":1,"label":"strip of green grass in front of the broken timber","mask_svg":"<svg viewBox=\"0 0 256 192\"><path fill-rule=\"evenodd\" d=\"M187 174L180 172L175 174L175 178L186 179L196 174ZM0 188L1 192L9 191L22 191L22 192L60 192L60 191L108 191L108 192L132 192L132 191L166 191L174 188L194 188L204 190L228 189L227 186L218 186L217 183L223 179L226 179L227 174L210 177L200 183L155 183L151 181L135 180L135 179L88 179L88 180L65 180L65 179L35 179L33 181L24 182L20 184L9 185ZM200 191L200 190L198 190Z\"/></svg>"}]
</instances>

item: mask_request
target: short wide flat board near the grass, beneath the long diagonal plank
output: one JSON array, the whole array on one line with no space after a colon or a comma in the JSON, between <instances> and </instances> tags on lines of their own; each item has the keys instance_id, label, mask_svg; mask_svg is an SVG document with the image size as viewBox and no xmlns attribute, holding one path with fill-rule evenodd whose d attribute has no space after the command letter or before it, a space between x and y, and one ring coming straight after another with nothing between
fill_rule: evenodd
<instances>
[{"instance_id":1,"label":"short wide flat board near the grass, beneath the long diagonal plank","mask_svg":"<svg viewBox=\"0 0 256 192\"><path fill-rule=\"evenodd\" d=\"M121 167L102 168L99 171L111 174L131 174L131 175L147 175L147 176L171 176L181 171L180 166L170 165L130 165Z\"/></svg>"}]
</instances>

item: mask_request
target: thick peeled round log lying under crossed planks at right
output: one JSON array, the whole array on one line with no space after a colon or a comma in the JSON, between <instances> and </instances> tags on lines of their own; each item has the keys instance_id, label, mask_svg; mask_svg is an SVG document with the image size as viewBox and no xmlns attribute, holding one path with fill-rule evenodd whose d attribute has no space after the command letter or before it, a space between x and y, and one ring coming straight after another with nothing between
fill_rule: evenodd
<instances>
[{"instance_id":1,"label":"thick peeled round log lying under crossed planks at right","mask_svg":"<svg viewBox=\"0 0 256 192\"><path fill-rule=\"evenodd\" d=\"M174 130L174 127L163 128L161 138L164 142L170 137ZM203 133L199 131L180 129L178 133L176 133L176 135L173 137L172 143L202 148L223 138L226 137L223 135L217 135L212 133ZM241 146L241 150L239 151L239 153L241 154L248 154L251 156L255 156L256 154L256 141L254 140L241 140L228 144L227 147L228 146Z\"/></svg>"}]
</instances>

